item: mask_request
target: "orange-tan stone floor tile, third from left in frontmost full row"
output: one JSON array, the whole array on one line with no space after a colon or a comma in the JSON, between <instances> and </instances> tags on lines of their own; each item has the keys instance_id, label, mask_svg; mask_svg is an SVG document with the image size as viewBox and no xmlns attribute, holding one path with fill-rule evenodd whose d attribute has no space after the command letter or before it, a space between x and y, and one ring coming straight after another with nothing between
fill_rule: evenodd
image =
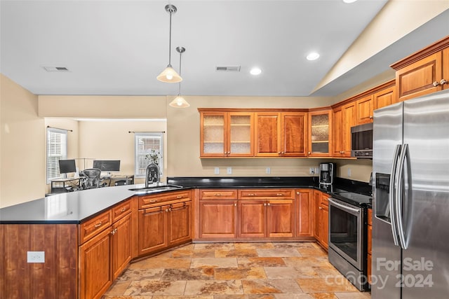
<instances>
[{"instance_id":1,"label":"orange-tan stone floor tile, third from left in frontmost full row","mask_svg":"<svg viewBox=\"0 0 449 299\"><path fill-rule=\"evenodd\" d=\"M244 279L245 294L267 293L302 293L295 279Z\"/></svg>"}]
</instances>

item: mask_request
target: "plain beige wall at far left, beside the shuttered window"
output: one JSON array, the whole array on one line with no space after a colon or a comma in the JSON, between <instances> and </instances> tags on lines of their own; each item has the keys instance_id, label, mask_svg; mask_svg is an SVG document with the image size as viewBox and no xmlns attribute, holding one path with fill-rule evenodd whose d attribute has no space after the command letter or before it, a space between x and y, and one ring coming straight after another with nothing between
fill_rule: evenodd
<instances>
[{"instance_id":1,"label":"plain beige wall at far left, beside the shuttered window","mask_svg":"<svg viewBox=\"0 0 449 299\"><path fill-rule=\"evenodd\" d=\"M45 130L37 96L0 74L0 207L45 193Z\"/></svg>"}]
</instances>

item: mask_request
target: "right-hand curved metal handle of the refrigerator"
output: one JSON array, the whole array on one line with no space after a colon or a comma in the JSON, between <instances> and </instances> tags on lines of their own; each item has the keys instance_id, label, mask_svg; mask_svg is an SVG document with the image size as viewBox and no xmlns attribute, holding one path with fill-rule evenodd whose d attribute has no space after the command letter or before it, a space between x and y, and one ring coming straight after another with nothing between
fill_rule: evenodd
<instances>
[{"instance_id":1,"label":"right-hand curved metal handle of the refrigerator","mask_svg":"<svg viewBox=\"0 0 449 299\"><path fill-rule=\"evenodd\" d=\"M407 249L407 242L406 242L406 235L404 232L403 227L403 218L402 218L402 204L403 204L403 169L404 169L404 162L406 161L406 155L408 153L408 144L404 144L401 152L401 157L399 158L399 164L398 164L398 173L396 175L396 182L398 183L398 186L396 188L396 195L395 195L395 206L396 206L396 226L398 228L398 235L399 235L399 242L401 242L401 248Z\"/></svg>"}]
</instances>

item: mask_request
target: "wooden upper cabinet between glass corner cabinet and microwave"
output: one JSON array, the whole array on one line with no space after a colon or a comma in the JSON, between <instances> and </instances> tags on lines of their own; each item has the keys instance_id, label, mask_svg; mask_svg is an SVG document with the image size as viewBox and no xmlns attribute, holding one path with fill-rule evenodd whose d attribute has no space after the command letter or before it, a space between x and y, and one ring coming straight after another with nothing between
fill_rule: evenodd
<instances>
[{"instance_id":1,"label":"wooden upper cabinet between glass corner cabinet and microwave","mask_svg":"<svg viewBox=\"0 0 449 299\"><path fill-rule=\"evenodd\" d=\"M351 157L351 127L356 125L356 102L333 110L333 156Z\"/></svg>"}]
</instances>

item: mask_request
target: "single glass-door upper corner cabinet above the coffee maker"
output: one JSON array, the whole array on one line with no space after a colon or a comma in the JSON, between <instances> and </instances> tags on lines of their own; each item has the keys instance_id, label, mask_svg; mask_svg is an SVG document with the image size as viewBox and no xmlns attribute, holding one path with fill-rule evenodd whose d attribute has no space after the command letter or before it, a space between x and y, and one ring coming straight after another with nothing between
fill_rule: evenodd
<instances>
[{"instance_id":1,"label":"single glass-door upper corner cabinet above the coffee maker","mask_svg":"<svg viewBox=\"0 0 449 299\"><path fill-rule=\"evenodd\" d=\"M332 155L332 109L309 112L309 157Z\"/></svg>"}]
</instances>

